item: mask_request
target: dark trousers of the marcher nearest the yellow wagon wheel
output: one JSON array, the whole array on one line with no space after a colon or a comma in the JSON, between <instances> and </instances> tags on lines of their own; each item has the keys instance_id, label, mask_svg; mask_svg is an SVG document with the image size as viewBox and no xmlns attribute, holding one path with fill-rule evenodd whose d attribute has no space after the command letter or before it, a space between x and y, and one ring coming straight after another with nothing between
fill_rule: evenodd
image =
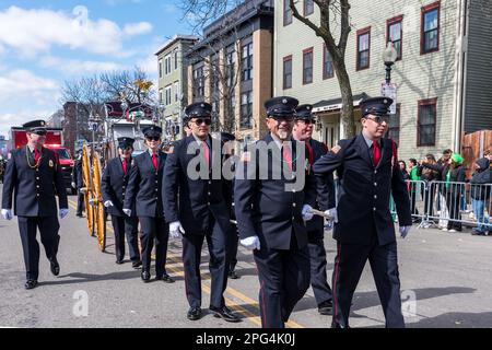
<instances>
[{"instance_id":1,"label":"dark trousers of the marcher nearest the yellow wagon wheel","mask_svg":"<svg viewBox=\"0 0 492 350\"><path fill-rule=\"evenodd\" d=\"M136 217L112 215L112 223L113 229L115 230L116 260L122 261L125 259L126 236L131 261L140 261L138 219Z\"/></svg>"}]
</instances>

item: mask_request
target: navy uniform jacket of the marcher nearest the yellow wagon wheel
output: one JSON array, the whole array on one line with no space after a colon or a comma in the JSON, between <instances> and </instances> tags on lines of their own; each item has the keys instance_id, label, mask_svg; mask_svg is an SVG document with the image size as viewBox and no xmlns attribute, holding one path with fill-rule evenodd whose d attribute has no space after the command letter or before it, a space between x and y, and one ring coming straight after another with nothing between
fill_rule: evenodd
<instances>
[{"instance_id":1,"label":"navy uniform jacket of the marcher nearest the yellow wagon wheel","mask_svg":"<svg viewBox=\"0 0 492 350\"><path fill-rule=\"evenodd\" d=\"M101 191L103 192L103 202L110 200L113 207L106 208L107 213L114 217L126 217L122 212L122 206L125 202L126 190L128 187L128 180L130 178L131 167L133 159L129 159L127 165L127 173L122 170L122 163L120 156L110 160L103 172L103 178L101 180ZM131 207L131 215L136 217L134 202Z\"/></svg>"}]
</instances>

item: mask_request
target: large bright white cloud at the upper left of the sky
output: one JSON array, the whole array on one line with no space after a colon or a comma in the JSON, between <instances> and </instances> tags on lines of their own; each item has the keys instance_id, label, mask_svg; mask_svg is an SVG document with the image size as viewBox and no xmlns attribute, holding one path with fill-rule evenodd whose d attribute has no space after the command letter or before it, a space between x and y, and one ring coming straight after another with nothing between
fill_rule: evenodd
<instances>
[{"instance_id":1,"label":"large bright white cloud at the upper left of the sky","mask_svg":"<svg viewBox=\"0 0 492 350\"><path fill-rule=\"evenodd\" d=\"M131 35L143 34L150 24L128 25ZM84 49L96 54L118 54L128 36L115 22L93 21L85 7L73 13L10 7L0 11L0 47L13 48L25 57L47 52L51 46Z\"/></svg>"}]
</instances>

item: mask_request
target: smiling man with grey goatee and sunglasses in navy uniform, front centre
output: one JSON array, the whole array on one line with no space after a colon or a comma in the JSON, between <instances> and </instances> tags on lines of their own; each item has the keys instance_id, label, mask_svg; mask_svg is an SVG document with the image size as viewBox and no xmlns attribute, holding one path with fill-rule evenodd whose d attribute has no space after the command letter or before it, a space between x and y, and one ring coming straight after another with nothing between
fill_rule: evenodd
<instances>
[{"instance_id":1,"label":"smiling man with grey goatee and sunglasses in navy uniform, front centre","mask_svg":"<svg viewBox=\"0 0 492 350\"><path fill-rule=\"evenodd\" d=\"M306 170L304 144L291 138L297 104L288 96L265 103L270 133L248 150L249 154L243 154L236 170L237 226L241 244L254 250L263 328L283 328L309 288L304 221L313 218L316 179ZM297 175L304 176L298 187L294 183L300 180Z\"/></svg>"}]
</instances>

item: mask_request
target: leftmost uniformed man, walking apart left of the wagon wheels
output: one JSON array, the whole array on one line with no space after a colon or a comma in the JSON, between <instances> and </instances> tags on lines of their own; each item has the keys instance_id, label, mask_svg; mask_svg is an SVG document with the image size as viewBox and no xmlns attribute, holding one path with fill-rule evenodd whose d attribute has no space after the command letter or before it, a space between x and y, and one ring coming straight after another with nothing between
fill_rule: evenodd
<instances>
[{"instance_id":1,"label":"leftmost uniformed man, walking apart left of the wagon wheels","mask_svg":"<svg viewBox=\"0 0 492 350\"><path fill-rule=\"evenodd\" d=\"M7 163L1 213L4 219L12 219L12 194L14 194L14 214L17 215L26 268L24 287L33 289L37 287L39 275L37 229L51 273L55 276L60 273L57 260L60 224L55 196L58 195L61 219L68 213L68 200L58 158L55 152L43 147L46 141L46 122L34 120L24 124L23 127L26 130L27 144L12 151L12 158Z\"/></svg>"}]
</instances>

